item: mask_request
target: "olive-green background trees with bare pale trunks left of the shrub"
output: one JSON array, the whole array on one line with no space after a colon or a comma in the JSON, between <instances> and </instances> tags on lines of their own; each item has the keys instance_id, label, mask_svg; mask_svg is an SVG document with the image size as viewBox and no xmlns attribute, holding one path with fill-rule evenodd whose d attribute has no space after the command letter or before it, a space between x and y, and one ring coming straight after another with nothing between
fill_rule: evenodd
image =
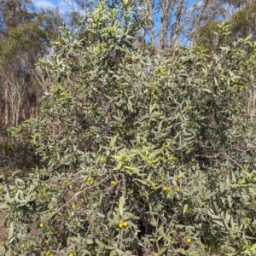
<instances>
[{"instance_id":1,"label":"olive-green background trees with bare pale trunks left of the shrub","mask_svg":"<svg viewBox=\"0 0 256 256\"><path fill-rule=\"evenodd\" d=\"M18 125L36 114L34 65L56 36L53 28L60 15L45 10L38 14L30 0L4 0L0 5L1 116L4 125Z\"/></svg>"}]
</instances>

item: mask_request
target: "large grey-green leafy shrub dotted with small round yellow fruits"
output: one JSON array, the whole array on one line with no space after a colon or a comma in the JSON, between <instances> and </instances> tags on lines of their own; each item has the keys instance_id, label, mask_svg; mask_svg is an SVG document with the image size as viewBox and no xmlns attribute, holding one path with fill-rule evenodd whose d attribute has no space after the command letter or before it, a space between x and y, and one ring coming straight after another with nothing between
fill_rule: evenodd
<instances>
[{"instance_id":1,"label":"large grey-green leafy shrub dotted with small round yellow fruits","mask_svg":"<svg viewBox=\"0 0 256 256\"><path fill-rule=\"evenodd\" d=\"M99 4L38 62L45 167L3 184L4 255L256 253L255 45L154 52L132 11Z\"/></svg>"}]
</instances>

